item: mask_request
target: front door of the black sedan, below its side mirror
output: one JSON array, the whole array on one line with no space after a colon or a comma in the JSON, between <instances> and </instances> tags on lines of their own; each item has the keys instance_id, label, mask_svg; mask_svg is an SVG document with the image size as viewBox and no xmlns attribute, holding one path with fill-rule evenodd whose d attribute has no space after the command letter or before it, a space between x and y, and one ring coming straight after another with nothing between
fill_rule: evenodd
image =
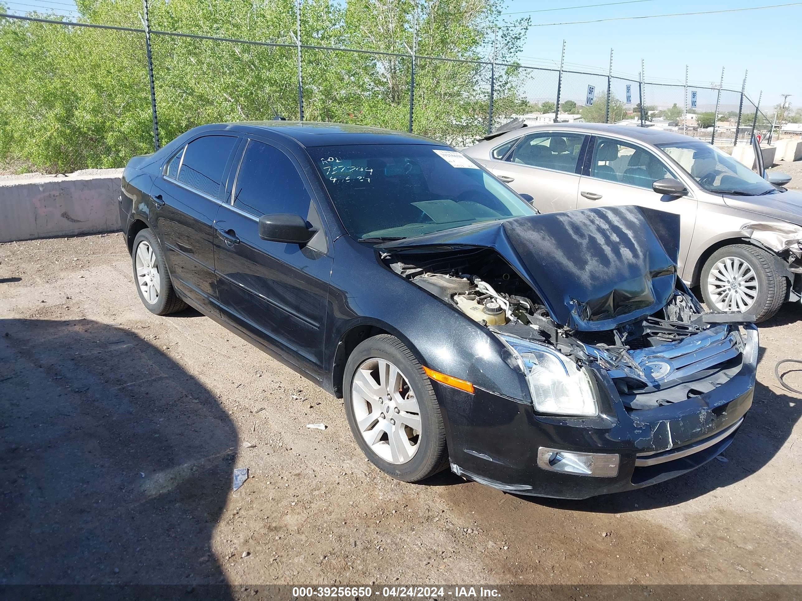
<instances>
[{"instance_id":1,"label":"front door of the black sedan, below its side mirror","mask_svg":"<svg viewBox=\"0 0 802 601\"><path fill-rule=\"evenodd\" d=\"M311 189L291 151L249 139L214 224L214 259L223 317L319 379L332 260ZM262 240L259 217L276 213L318 233L304 245Z\"/></svg>"}]
</instances>

